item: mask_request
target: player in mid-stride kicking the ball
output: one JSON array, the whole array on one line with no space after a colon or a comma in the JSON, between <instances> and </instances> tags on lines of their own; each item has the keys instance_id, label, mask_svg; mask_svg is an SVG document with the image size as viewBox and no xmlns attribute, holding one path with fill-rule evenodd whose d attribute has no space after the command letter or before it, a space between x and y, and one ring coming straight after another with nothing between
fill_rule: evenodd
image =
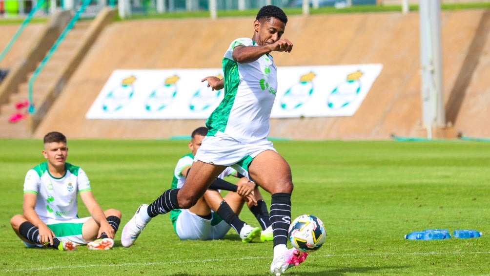
<instances>
[{"instance_id":1,"label":"player in mid-stride kicking the ball","mask_svg":"<svg viewBox=\"0 0 490 276\"><path fill-rule=\"evenodd\" d=\"M307 253L286 247L291 224L293 181L286 160L267 140L270 111L277 91L277 72L271 52L291 52L293 44L281 38L288 18L276 6L264 6L253 23L252 38L234 40L222 65L224 78L205 77L213 90L224 88L224 99L206 122L206 138L180 189L166 190L147 207L155 217L174 209L188 209L204 195L226 167L257 183L271 194L270 223L273 258L270 272L276 276L298 265ZM121 243L131 246L146 226L138 213L124 226Z\"/></svg>"}]
</instances>

